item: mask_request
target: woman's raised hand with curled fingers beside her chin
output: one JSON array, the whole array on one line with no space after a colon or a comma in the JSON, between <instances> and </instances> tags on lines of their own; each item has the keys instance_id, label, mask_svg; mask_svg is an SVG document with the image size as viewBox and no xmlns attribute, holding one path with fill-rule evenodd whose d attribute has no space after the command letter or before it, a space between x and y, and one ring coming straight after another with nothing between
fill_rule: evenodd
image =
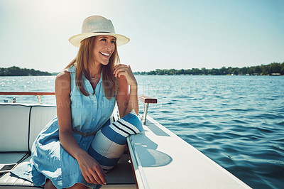
<instances>
[{"instance_id":1,"label":"woman's raised hand with curled fingers beside her chin","mask_svg":"<svg viewBox=\"0 0 284 189\"><path fill-rule=\"evenodd\" d=\"M137 81L133 75L130 65L119 64L114 66L114 77L121 77L124 75L130 86L137 86Z\"/></svg>"}]
</instances>

